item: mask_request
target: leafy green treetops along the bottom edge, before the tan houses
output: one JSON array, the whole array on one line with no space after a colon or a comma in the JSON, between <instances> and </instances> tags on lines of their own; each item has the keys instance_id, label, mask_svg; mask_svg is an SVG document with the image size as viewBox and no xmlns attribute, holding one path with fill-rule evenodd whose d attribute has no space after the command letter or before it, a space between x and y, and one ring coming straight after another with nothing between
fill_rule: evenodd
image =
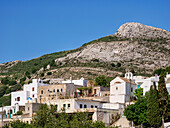
<instances>
[{"instance_id":1,"label":"leafy green treetops along the bottom edge, before the tan houses","mask_svg":"<svg viewBox=\"0 0 170 128\"><path fill-rule=\"evenodd\" d=\"M50 107L42 105L33 118L32 123L24 123L16 120L6 125L6 128L105 128L105 124L99 121L92 122L88 112L67 114L64 111L57 112L54 105Z\"/></svg>"}]
</instances>

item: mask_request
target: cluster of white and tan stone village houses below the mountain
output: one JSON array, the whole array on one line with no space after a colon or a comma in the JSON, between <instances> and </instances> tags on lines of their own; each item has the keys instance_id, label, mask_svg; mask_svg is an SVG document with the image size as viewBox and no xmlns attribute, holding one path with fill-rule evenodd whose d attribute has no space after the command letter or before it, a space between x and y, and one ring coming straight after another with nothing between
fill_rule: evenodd
<instances>
[{"instance_id":1,"label":"cluster of white and tan stone village houses below the mountain","mask_svg":"<svg viewBox=\"0 0 170 128\"><path fill-rule=\"evenodd\" d=\"M53 104L58 112L65 110L66 113L74 114L88 111L93 121L102 121L109 126L123 115L127 105L134 103L135 89L141 87L145 94L153 82L158 86L159 76L147 78L127 72L125 77L117 76L113 79L110 88L93 84L88 84L87 87L84 79L77 83L73 81L47 85L40 79L33 79L33 83L24 85L23 91L12 92L11 106L0 108L1 114L5 112L4 123L16 118L30 123L41 104ZM165 82L169 91L169 74L166 75ZM23 114L16 116L17 111L23 111Z\"/></svg>"}]
</instances>

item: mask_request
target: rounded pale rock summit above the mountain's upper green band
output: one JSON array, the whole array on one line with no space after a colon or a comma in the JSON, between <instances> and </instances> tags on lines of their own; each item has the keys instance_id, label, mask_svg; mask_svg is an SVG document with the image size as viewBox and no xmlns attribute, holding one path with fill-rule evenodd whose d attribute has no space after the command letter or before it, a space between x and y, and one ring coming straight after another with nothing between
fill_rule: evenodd
<instances>
[{"instance_id":1,"label":"rounded pale rock summit above the mountain's upper green band","mask_svg":"<svg viewBox=\"0 0 170 128\"><path fill-rule=\"evenodd\" d=\"M165 38L170 39L170 32L164 29L129 22L121 25L115 35L125 38Z\"/></svg>"}]
</instances>

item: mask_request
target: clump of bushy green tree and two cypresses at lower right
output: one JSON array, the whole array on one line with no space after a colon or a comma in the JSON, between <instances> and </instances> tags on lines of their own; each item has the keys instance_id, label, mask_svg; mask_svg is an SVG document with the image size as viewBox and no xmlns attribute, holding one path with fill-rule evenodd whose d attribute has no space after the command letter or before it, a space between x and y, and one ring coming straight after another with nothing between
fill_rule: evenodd
<instances>
[{"instance_id":1,"label":"clump of bushy green tree and two cypresses at lower right","mask_svg":"<svg viewBox=\"0 0 170 128\"><path fill-rule=\"evenodd\" d=\"M134 94L137 96L137 101L135 104L129 105L124 111L124 115L129 121L133 121L136 126L156 128L162 125L162 119L169 120L170 96L168 99L163 73L159 78L158 90L154 83L145 96L142 96L142 89L135 90Z\"/></svg>"}]
</instances>

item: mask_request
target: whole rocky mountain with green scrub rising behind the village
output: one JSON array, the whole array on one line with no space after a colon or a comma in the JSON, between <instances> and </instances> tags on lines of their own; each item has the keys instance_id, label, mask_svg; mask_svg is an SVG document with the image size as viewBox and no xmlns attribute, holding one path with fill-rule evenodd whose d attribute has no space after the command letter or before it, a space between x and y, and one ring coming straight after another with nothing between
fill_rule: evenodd
<instances>
[{"instance_id":1,"label":"whole rocky mountain with green scrub rising behind the village","mask_svg":"<svg viewBox=\"0 0 170 128\"><path fill-rule=\"evenodd\" d=\"M115 34L75 50L1 64L0 77L20 79L29 72L29 79L69 78L70 74L75 79L94 79L101 74L109 77L121 75L125 70L149 75L154 69L167 66L170 66L170 32L140 23L125 23Z\"/></svg>"}]
</instances>

